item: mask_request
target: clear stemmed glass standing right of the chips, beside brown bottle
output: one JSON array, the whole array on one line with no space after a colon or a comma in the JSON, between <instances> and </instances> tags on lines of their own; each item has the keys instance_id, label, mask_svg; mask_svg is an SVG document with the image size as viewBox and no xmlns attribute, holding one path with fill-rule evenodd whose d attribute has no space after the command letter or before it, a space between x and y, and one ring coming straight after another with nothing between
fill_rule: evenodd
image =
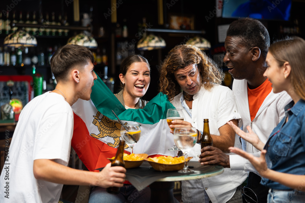
<instances>
[{"instance_id":1,"label":"clear stemmed glass standing right of the chips, beside brown bottle","mask_svg":"<svg viewBox=\"0 0 305 203\"><path fill-rule=\"evenodd\" d=\"M188 168L188 152L196 144L197 136L197 130L194 127L175 128L174 130L174 140L184 154L184 167L178 170L179 173L190 173L194 171Z\"/></svg>"}]
</instances>

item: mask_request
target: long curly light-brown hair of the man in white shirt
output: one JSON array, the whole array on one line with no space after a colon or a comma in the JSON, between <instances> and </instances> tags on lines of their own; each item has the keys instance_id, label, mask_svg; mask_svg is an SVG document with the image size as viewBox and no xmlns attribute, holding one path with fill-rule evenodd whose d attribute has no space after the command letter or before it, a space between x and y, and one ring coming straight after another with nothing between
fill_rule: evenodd
<instances>
[{"instance_id":1,"label":"long curly light-brown hair of the man in white shirt","mask_svg":"<svg viewBox=\"0 0 305 203\"><path fill-rule=\"evenodd\" d=\"M214 84L221 84L224 73L216 63L198 47L192 45L175 46L164 59L160 71L160 92L166 94L169 100L180 93L180 86L175 79L174 72L178 68L196 64L201 75L201 81L206 89Z\"/></svg>"}]
</instances>

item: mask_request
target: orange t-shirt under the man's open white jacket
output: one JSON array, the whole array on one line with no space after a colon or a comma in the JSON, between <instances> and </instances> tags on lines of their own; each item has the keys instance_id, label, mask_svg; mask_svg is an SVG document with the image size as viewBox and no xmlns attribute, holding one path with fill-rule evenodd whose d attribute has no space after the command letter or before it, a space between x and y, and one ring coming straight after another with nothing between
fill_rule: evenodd
<instances>
[{"instance_id":1,"label":"orange t-shirt under the man's open white jacket","mask_svg":"<svg viewBox=\"0 0 305 203\"><path fill-rule=\"evenodd\" d=\"M248 87L248 100L249 100L249 109L251 121L255 118L257 111L264 102L267 95L271 92L271 82L266 79L263 84L255 89L249 89Z\"/></svg>"}]
</instances>

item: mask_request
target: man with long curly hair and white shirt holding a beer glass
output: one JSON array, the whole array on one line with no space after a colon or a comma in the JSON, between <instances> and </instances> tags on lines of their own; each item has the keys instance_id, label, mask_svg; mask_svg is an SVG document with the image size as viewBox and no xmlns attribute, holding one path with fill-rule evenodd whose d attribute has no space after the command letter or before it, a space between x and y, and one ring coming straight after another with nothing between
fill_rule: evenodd
<instances>
[{"instance_id":1,"label":"man with long curly hair and white shirt holding a beer glass","mask_svg":"<svg viewBox=\"0 0 305 203\"><path fill-rule=\"evenodd\" d=\"M199 48L191 45L174 47L163 61L160 72L160 91L167 94L174 107L182 109L185 120L172 121L171 128L195 127L199 138L203 119L209 119L213 146L229 153L229 146L241 148L239 138L226 124L241 125L232 91L221 86L224 74ZM181 89L183 90L182 92ZM198 140L199 141L199 140ZM196 144L189 152L199 161L201 147ZM242 202L240 185L246 180L244 171L225 169L215 177L182 181L183 202Z\"/></svg>"}]
</instances>

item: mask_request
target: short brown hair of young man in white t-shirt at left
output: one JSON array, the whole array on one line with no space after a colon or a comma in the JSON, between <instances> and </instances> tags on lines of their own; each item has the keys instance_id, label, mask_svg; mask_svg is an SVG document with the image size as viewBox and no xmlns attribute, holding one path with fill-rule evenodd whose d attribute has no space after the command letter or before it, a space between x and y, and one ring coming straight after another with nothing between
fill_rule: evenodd
<instances>
[{"instance_id":1,"label":"short brown hair of young man in white t-shirt at left","mask_svg":"<svg viewBox=\"0 0 305 203\"><path fill-rule=\"evenodd\" d=\"M57 81L66 81L71 68L83 68L89 61L94 63L94 56L88 48L67 44L60 47L52 56L51 71Z\"/></svg>"}]
</instances>

